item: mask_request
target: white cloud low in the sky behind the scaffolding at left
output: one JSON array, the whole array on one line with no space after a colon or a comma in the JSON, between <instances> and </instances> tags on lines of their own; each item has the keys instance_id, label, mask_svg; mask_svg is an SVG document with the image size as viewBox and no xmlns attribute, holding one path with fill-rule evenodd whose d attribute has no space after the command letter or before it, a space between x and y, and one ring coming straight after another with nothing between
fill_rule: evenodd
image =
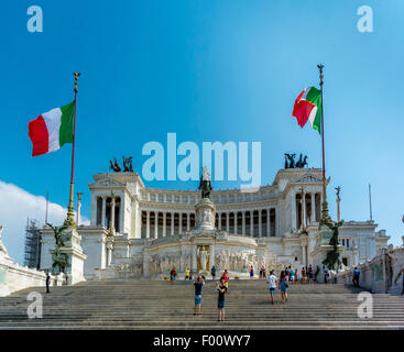
<instances>
[{"instance_id":1,"label":"white cloud low in the sky behind the scaffolding at left","mask_svg":"<svg viewBox=\"0 0 404 352\"><path fill-rule=\"evenodd\" d=\"M35 196L26 190L0 180L0 224L3 226L2 240L9 255L19 264L24 262L25 226L26 218L36 219L41 226L44 223L46 199ZM62 224L66 219L67 209L50 202L47 207L47 221ZM81 223L89 224L87 218L81 216Z\"/></svg>"}]
</instances>

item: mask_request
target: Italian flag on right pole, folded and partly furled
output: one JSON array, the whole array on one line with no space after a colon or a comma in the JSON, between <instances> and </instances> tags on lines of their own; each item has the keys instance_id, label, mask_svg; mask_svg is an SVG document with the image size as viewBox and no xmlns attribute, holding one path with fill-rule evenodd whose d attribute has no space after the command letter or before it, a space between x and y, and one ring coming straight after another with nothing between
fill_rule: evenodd
<instances>
[{"instance_id":1,"label":"Italian flag on right pole, folded and partly furled","mask_svg":"<svg viewBox=\"0 0 404 352\"><path fill-rule=\"evenodd\" d=\"M321 134L321 91L315 87L307 87L295 100L293 117L303 128L310 120L314 130Z\"/></svg>"}]
</instances>

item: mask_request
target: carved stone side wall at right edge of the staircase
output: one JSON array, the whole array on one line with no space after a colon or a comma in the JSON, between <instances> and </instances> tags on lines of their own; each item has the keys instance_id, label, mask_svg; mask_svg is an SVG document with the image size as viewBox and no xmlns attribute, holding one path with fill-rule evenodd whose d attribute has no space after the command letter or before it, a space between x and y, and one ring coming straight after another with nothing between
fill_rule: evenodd
<instances>
[{"instance_id":1,"label":"carved stone side wall at right edge of the staircase","mask_svg":"<svg viewBox=\"0 0 404 352\"><path fill-rule=\"evenodd\" d=\"M404 242L404 241L403 241ZM374 294L400 295L403 290L404 275L404 243L402 246L380 249L376 256L360 265L359 285ZM354 267L347 267L339 272L337 282L340 284L352 285Z\"/></svg>"}]
</instances>

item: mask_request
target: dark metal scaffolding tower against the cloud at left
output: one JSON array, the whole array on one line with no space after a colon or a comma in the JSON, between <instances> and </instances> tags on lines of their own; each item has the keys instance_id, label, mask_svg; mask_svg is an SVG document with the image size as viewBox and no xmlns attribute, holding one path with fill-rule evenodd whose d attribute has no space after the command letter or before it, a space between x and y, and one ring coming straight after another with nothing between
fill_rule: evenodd
<instances>
[{"instance_id":1,"label":"dark metal scaffolding tower against the cloud at left","mask_svg":"<svg viewBox=\"0 0 404 352\"><path fill-rule=\"evenodd\" d=\"M36 220L26 219L24 265L36 270L41 266L41 232Z\"/></svg>"}]
</instances>

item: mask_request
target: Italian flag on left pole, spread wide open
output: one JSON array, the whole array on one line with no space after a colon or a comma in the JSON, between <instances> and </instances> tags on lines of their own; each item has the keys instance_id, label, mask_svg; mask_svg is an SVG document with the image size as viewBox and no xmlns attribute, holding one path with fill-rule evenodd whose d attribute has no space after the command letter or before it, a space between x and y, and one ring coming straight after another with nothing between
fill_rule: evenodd
<instances>
[{"instance_id":1,"label":"Italian flag on left pole, spread wide open","mask_svg":"<svg viewBox=\"0 0 404 352\"><path fill-rule=\"evenodd\" d=\"M67 106L52 109L29 123L32 156L57 151L65 143L73 143L74 108Z\"/></svg>"}]
</instances>

